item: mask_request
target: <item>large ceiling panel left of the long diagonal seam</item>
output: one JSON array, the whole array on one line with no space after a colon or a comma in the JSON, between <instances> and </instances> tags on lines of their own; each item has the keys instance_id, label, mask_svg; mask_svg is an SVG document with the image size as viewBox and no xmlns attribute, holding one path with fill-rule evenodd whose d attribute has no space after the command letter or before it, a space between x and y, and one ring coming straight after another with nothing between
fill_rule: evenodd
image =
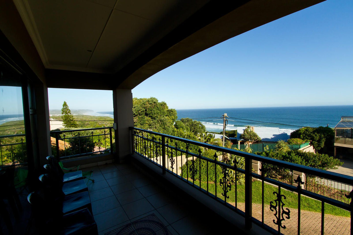
<instances>
[{"instance_id":1,"label":"large ceiling panel left of the long diagonal seam","mask_svg":"<svg viewBox=\"0 0 353 235\"><path fill-rule=\"evenodd\" d=\"M87 0L28 0L49 66L85 68L111 8Z\"/></svg>"}]
</instances>

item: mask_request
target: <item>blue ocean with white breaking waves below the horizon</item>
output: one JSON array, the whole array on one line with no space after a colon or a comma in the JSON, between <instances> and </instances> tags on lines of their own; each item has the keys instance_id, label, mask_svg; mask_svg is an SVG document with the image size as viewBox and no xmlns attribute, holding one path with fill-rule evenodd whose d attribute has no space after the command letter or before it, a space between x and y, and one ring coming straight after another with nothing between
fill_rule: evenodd
<instances>
[{"instance_id":1,"label":"blue ocean with white breaking waves below the horizon","mask_svg":"<svg viewBox=\"0 0 353 235\"><path fill-rule=\"evenodd\" d=\"M178 119L191 118L202 122L208 131L222 131L223 120L221 118L224 113L227 113L229 117L226 130L236 130L237 126L246 125L296 130L302 126L317 127L328 125L334 128L341 120L341 116L353 116L353 105L184 109L177 110L177 113ZM113 117L113 112L97 112L96 116Z\"/></svg>"}]
</instances>

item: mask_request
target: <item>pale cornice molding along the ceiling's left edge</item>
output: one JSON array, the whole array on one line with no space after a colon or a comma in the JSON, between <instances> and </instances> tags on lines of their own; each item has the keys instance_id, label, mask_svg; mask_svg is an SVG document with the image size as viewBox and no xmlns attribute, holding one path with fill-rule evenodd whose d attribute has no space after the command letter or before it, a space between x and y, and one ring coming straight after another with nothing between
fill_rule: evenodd
<instances>
[{"instance_id":1,"label":"pale cornice molding along the ceiling's left edge","mask_svg":"<svg viewBox=\"0 0 353 235\"><path fill-rule=\"evenodd\" d=\"M18 13L20 14L22 21L28 31L29 36L32 39L34 46L36 47L39 56L41 57L44 67L49 66L48 57L44 49L42 39L39 35L37 26L34 21L33 14L30 10L27 0L13 0Z\"/></svg>"}]
</instances>

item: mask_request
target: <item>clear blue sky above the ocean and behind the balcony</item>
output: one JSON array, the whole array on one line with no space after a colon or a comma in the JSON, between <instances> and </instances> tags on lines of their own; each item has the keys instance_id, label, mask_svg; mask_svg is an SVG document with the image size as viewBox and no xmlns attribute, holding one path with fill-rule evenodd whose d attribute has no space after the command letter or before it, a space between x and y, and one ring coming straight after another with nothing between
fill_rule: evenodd
<instances>
[{"instance_id":1,"label":"clear blue sky above the ocean and behind the balcony","mask_svg":"<svg viewBox=\"0 0 353 235\"><path fill-rule=\"evenodd\" d=\"M352 0L328 0L293 13L162 70L133 97L174 109L352 105L352 12ZM67 90L49 89L50 109L65 97L71 109L112 110L109 91Z\"/></svg>"}]
</instances>

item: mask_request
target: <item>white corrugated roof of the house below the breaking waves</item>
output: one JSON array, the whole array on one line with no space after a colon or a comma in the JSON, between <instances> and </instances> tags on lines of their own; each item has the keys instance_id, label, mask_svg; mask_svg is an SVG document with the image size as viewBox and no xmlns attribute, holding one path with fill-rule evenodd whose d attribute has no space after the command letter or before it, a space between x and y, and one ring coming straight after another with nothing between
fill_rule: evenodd
<instances>
[{"instance_id":1,"label":"white corrugated roof of the house below the breaking waves","mask_svg":"<svg viewBox=\"0 0 353 235\"><path fill-rule=\"evenodd\" d=\"M244 142L241 140L240 135L243 134L245 126L238 126L237 137L229 138L234 144L238 142ZM253 131L261 138L261 142L277 142L279 140L288 140L290 138L291 129L280 129L278 127L258 127L252 126Z\"/></svg>"}]
</instances>

